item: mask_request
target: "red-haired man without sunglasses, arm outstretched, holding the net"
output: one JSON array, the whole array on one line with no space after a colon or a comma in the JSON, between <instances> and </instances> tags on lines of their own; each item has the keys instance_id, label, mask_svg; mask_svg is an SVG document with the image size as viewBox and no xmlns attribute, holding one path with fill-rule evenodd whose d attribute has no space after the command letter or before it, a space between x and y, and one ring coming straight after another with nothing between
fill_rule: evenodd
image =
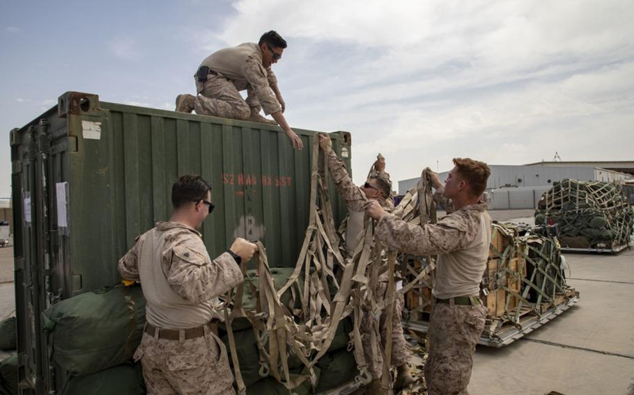
<instances>
[{"instance_id":1,"label":"red-haired man without sunglasses, arm outstretched, holding the net","mask_svg":"<svg viewBox=\"0 0 634 395\"><path fill-rule=\"evenodd\" d=\"M367 211L378 220L379 239L390 247L411 255L438 255L425 365L429 395L468 394L473 353L486 319L479 287L488 260L491 219L478 198L490 170L472 159L454 159L454 164L444 186L433 175L435 200L456 210L437 224L409 225L378 204ZM447 198L453 207L447 206Z\"/></svg>"}]
</instances>

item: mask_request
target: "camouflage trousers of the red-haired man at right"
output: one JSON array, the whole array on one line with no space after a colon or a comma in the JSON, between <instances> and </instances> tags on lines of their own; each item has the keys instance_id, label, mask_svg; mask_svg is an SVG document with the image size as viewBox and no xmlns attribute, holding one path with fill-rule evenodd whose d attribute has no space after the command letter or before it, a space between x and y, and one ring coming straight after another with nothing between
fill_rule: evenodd
<instances>
[{"instance_id":1,"label":"camouflage trousers of the red-haired man at right","mask_svg":"<svg viewBox=\"0 0 634 395\"><path fill-rule=\"evenodd\" d=\"M425 380L429 395L468 395L473 353L486 308L435 303L429 321Z\"/></svg>"}]
</instances>

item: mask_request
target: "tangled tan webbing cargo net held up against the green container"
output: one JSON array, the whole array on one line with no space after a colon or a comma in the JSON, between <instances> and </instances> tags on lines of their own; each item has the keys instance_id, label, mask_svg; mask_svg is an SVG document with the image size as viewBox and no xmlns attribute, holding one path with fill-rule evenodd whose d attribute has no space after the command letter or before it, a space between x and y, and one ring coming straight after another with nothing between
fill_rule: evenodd
<instances>
[{"instance_id":1,"label":"tangled tan webbing cargo net held up against the green container","mask_svg":"<svg viewBox=\"0 0 634 395\"><path fill-rule=\"evenodd\" d=\"M359 323L363 314L379 316L384 309L389 313L387 325L392 322L396 252L384 248L375 237L372 221L365 218L357 247L351 256L347 256L341 236L334 227L325 177L327 163L320 153L317 138L314 139L311 163L309 226L292 273L287 273L286 280L280 277L281 271L269 267L265 248L258 243L256 273L247 273L242 264L245 283L232 291L235 294L227 296L233 303L231 314L225 310L226 336L241 394L246 393L245 387L252 388L252 384L261 378L275 380L273 385L282 385L290 393L332 389L320 380L320 374L328 367L321 360L332 357L342 341L343 350L339 349L339 356L354 356L352 364L348 362L346 366L346 369L353 368L350 369L350 380L357 385L367 384L372 377ZM419 279L426 277L429 270L431 268L421 271ZM378 296L375 294L378 277L386 271L387 292ZM401 289L401 293L408 289ZM247 328L243 325L245 320L248 321ZM392 330L388 326L387 339L381 341L378 321L374 320L373 330L364 336L371 336L383 355L382 386L389 388L392 386L388 365L392 355ZM240 348L244 344L236 341L236 335L255 339L257 353L252 357L257 358L256 361L242 358L245 352ZM381 344L385 344L385 348ZM255 375L254 364L258 366Z\"/></svg>"}]
</instances>

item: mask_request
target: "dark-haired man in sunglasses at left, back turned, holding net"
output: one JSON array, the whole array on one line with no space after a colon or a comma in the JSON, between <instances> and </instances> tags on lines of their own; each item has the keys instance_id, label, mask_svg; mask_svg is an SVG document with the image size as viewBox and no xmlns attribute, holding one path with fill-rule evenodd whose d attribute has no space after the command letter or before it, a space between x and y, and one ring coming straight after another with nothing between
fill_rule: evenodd
<instances>
[{"instance_id":1,"label":"dark-haired man in sunglasses at left, back turned, holding net","mask_svg":"<svg viewBox=\"0 0 634 395\"><path fill-rule=\"evenodd\" d=\"M210 259L196 231L212 211L210 186L199 176L180 177L172 188L169 222L137 237L118 264L126 280L141 282L146 328L134 360L141 360L148 394L235 394L233 373L215 322L217 297L244 278L238 263L256 245L236 239Z\"/></svg>"}]
</instances>

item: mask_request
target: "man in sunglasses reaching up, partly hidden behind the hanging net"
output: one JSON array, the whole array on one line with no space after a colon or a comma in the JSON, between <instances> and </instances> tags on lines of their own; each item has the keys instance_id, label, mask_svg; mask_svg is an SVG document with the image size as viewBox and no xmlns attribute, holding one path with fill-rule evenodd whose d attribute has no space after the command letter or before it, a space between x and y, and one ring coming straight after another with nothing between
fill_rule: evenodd
<instances>
[{"instance_id":1,"label":"man in sunglasses reaching up, partly hidden behind the hanging net","mask_svg":"<svg viewBox=\"0 0 634 395\"><path fill-rule=\"evenodd\" d=\"M362 233L364 209L366 204L370 200L378 202L385 210L391 212L394 211L394 200L390 197L392 183L389 181L389 174L385 172L385 161L377 161L375 167L378 170L378 175L371 176L364 184L364 186L356 186L353 180L348 175L346 165L339 159L337 154L332 150L332 143L330 137L320 134L319 143L322 147L325 155L327 155L328 170L337 191L343 200L346 200L346 206L348 207L348 224L346 226L346 250L348 254L352 254L356 244L357 236ZM354 224L353 224L354 223ZM383 273L378 278L378 284L374 290L374 294L378 298L385 298L387 294L387 273ZM392 366L396 366L399 371L396 378L395 387L404 387L405 385L413 382L413 378L410 376L408 369L408 362L410 360L410 354L403 337L403 323L402 310L403 310L403 296L397 298L394 301L394 312L392 314ZM382 376L382 364L383 358L380 350L373 344L371 334L373 333L373 327L376 318L370 312L366 312L362 317L362 322L359 325L359 330L362 333L362 344L364 348L364 355L369 365L369 371L372 374L373 382L370 387L374 390L380 391L380 381ZM387 309L381 312L379 317L379 328L381 339L387 339ZM383 346L385 347L385 340L383 340ZM378 394L379 392L377 392Z\"/></svg>"}]
</instances>

